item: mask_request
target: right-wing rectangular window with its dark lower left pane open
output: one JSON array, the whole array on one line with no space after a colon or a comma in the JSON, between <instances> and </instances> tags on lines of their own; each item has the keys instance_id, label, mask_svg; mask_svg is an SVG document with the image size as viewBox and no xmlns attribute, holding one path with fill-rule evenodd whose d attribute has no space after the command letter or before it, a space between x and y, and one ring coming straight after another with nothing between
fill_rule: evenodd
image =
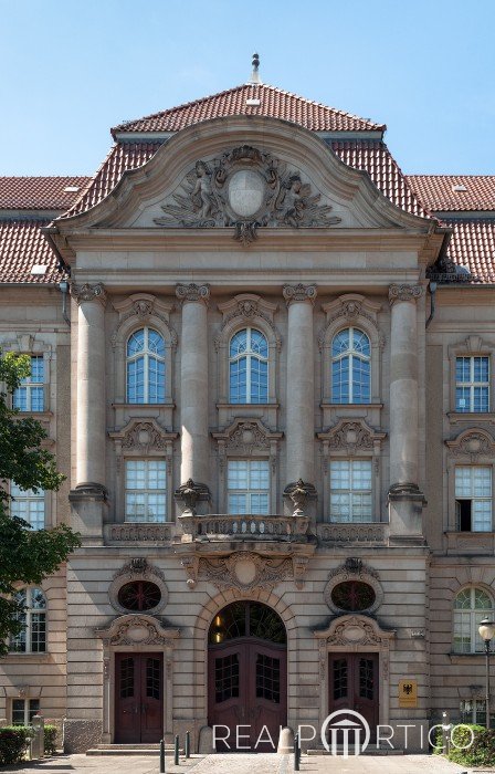
<instances>
[{"instance_id":1,"label":"right-wing rectangular window with its dark lower left pane open","mask_svg":"<svg viewBox=\"0 0 495 774\"><path fill-rule=\"evenodd\" d=\"M455 511L460 532L492 532L489 466L456 466Z\"/></svg>"}]
</instances>

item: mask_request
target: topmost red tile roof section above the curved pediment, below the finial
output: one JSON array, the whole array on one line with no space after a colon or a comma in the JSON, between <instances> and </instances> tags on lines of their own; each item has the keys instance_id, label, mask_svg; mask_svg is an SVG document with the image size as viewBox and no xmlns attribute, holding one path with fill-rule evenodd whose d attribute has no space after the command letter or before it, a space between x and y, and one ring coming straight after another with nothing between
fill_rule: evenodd
<instances>
[{"instance_id":1,"label":"topmost red tile roof section above the curved pediment, below the finial","mask_svg":"<svg viewBox=\"0 0 495 774\"><path fill-rule=\"evenodd\" d=\"M260 105L246 105L246 100L260 100ZM112 129L115 137L122 132L179 132L210 118L233 115L270 116L291 121L313 132L383 132L383 124L312 102L276 86L243 84L219 94L188 102L168 111L137 121L128 121Z\"/></svg>"}]
</instances>

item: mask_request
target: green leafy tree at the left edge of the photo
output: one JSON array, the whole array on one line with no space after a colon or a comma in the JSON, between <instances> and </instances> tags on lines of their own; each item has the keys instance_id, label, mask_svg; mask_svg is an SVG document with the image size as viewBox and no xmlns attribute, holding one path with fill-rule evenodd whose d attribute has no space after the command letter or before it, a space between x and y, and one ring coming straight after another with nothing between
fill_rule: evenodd
<instances>
[{"instance_id":1,"label":"green leafy tree at the left edge of the photo","mask_svg":"<svg viewBox=\"0 0 495 774\"><path fill-rule=\"evenodd\" d=\"M65 524L34 531L24 520L9 514L9 481L36 492L57 490L64 480L53 454L41 447L46 432L40 422L21 418L9 407L9 394L30 369L27 355L0 353L0 383L7 389L0 391L0 655L8 651L8 637L22 629L19 616L24 608L15 598L17 584L40 584L81 545L78 534Z\"/></svg>"}]
</instances>

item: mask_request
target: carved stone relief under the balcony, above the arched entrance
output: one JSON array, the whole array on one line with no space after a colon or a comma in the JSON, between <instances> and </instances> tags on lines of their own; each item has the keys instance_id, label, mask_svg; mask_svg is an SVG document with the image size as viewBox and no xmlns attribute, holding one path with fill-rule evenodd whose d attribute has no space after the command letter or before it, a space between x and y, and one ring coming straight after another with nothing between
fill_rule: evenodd
<instances>
[{"instance_id":1,"label":"carved stone relief under the balcony, above the arched entrance","mask_svg":"<svg viewBox=\"0 0 495 774\"><path fill-rule=\"evenodd\" d=\"M208 580L219 590L233 589L236 596L254 590L272 590L283 580L292 579L302 588L307 567L306 556L273 558L253 552L235 552L222 557L183 557L189 588L198 580Z\"/></svg>"}]
</instances>

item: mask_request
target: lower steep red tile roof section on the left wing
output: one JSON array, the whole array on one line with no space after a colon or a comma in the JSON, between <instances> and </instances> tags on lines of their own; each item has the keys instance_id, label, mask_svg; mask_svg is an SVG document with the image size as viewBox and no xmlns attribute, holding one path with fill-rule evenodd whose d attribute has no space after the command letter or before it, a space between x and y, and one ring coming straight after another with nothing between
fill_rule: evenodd
<instances>
[{"instance_id":1,"label":"lower steep red tile roof section on the left wing","mask_svg":"<svg viewBox=\"0 0 495 774\"><path fill-rule=\"evenodd\" d=\"M46 219L0 219L0 283L46 284L61 280L56 254L40 231L40 227L49 222ZM31 274L34 264L46 265L46 273Z\"/></svg>"}]
</instances>

